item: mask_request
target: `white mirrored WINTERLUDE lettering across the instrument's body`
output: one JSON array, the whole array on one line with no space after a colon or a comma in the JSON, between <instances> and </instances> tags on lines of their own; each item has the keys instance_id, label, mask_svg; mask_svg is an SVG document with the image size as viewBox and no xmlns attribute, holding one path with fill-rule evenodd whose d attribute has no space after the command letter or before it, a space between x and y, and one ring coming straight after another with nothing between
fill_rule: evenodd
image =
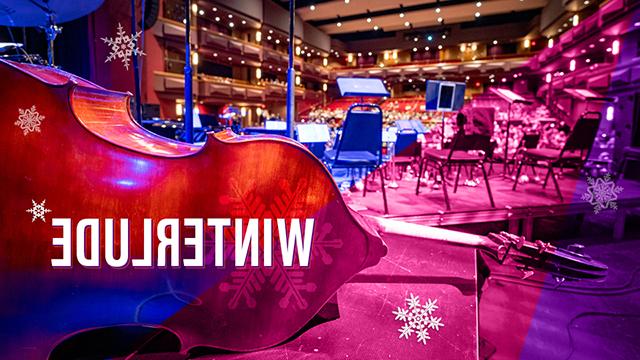
<instances>
[{"instance_id":1,"label":"white mirrored WINTERLUDE lettering across the instrument's body","mask_svg":"<svg viewBox=\"0 0 640 360\"><path fill-rule=\"evenodd\" d=\"M225 245L229 245L225 244L224 233L230 230L234 234L235 266L271 266L273 245L276 245L275 234L282 265L306 267L309 266L314 230L312 218L304 219L304 226L299 218L275 221L165 218L157 224L152 219L144 219L142 256L134 257L131 255L129 219L123 218L117 222L119 226L116 226L114 219L82 219L75 224L69 218L52 219L51 225L57 228L56 231L61 230L62 235L52 238L52 246L60 256L51 259L51 266L58 269L74 266L100 268L105 265L111 268L204 268L206 235L213 239L213 266L223 267ZM116 230L119 230L119 239L114 235ZM184 233L190 236L184 236ZM296 258L298 261L294 264Z\"/></svg>"}]
</instances>

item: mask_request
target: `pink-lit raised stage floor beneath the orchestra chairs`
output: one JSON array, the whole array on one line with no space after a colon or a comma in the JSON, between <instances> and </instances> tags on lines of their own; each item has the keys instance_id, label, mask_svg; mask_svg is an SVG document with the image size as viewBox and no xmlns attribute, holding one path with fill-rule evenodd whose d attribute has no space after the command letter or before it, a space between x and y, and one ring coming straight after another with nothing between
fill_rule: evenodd
<instances>
[{"instance_id":1,"label":"pink-lit raised stage floor beneath the orchestra chairs","mask_svg":"<svg viewBox=\"0 0 640 360\"><path fill-rule=\"evenodd\" d=\"M457 193L453 193L453 186L447 187L450 211L446 210L441 188L432 189L423 184L420 194L416 195L415 179L400 180L397 189L387 187L389 214L386 216L422 225L445 226L593 212L593 205L582 200L587 192L587 181L575 176L565 175L558 180L564 201L558 198L551 180L546 189L540 183L530 182L518 184L513 191L513 180L491 176L489 182L495 208L490 205L483 181L478 186L469 187L462 185L462 178L461 175ZM640 206L640 183L624 179L615 183L623 187L617 200L620 209ZM370 184L370 188L375 190L368 191L365 197L362 191L354 191L344 194L344 199L362 214L384 215L379 180Z\"/></svg>"}]
</instances>

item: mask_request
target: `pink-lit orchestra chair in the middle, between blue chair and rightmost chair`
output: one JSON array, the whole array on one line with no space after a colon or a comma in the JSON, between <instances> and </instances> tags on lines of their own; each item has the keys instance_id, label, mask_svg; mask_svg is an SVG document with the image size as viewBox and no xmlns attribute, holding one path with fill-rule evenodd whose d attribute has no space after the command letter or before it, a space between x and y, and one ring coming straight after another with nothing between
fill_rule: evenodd
<instances>
[{"instance_id":1,"label":"pink-lit orchestra chair in the middle, between blue chair and rightmost chair","mask_svg":"<svg viewBox=\"0 0 640 360\"><path fill-rule=\"evenodd\" d=\"M484 162L487 153L491 148L491 137L487 135L465 135L464 130L460 129L453 139L449 149L426 149L422 152L420 165L418 170L418 183L416 184L416 195L420 194L420 181L424 171L432 166L442 178L442 191L444 193L444 201L447 210L451 210L449 202L449 194L447 192L447 181L444 176L444 169L447 167L457 167L456 179L453 185L453 192L458 191L458 182L460 180L460 172L463 166L478 166L482 169L482 176L487 187L487 195L491 207L496 205L493 201L491 186L487 177L487 171L484 168ZM475 150L470 152L471 150Z\"/></svg>"}]
</instances>

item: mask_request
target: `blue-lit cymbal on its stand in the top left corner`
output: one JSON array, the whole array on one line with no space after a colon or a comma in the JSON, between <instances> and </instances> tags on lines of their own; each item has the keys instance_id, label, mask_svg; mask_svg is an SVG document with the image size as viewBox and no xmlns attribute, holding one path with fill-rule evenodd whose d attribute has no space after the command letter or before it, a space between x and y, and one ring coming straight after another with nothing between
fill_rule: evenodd
<instances>
[{"instance_id":1,"label":"blue-lit cymbal on its stand in the top left corner","mask_svg":"<svg viewBox=\"0 0 640 360\"><path fill-rule=\"evenodd\" d=\"M47 39L47 64L54 65L54 41L62 32L61 23L78 19L95 11L104 0L0 0L0 26L36 27L44 31ZM38 55L27 54L20 43L0 43L0 53L14 49L20 55L3 58L43 63Z\"/></svg>"}]
</instances>

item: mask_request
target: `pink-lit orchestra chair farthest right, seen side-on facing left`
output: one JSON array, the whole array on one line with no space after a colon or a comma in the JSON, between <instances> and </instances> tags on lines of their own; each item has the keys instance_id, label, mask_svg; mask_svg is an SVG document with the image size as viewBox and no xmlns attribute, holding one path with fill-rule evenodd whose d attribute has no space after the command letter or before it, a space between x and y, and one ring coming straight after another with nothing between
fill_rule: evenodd
<instances>
[{"instance_id":1,"label":"pink-lit orchestra chair farthest right, seen side-on facing left","mask_svg":"<svg viewBox=\"0 0 640 360\"><path fill-rule=\"evenodd\" d=\"M576 122L562 149L525 149L522 152L522 159L518 165L513 190L515 191L518 186L518 179L520 178L523 166L536 166L539 162L543 161L546 163L547 175L542 183L542 188L545 189L547 187L547 182L549 181L549 177L551 177L560 201L564 201L562 192L560 191L560 185L558 185L558 180L556 179L556 174L553 172L553 167L565 167L569 165L581 168L584 165L589 158L591 147L598 134L601 118L602 114L599 112L587 112L583 114Z\"/></svg>"}]
</instances>

